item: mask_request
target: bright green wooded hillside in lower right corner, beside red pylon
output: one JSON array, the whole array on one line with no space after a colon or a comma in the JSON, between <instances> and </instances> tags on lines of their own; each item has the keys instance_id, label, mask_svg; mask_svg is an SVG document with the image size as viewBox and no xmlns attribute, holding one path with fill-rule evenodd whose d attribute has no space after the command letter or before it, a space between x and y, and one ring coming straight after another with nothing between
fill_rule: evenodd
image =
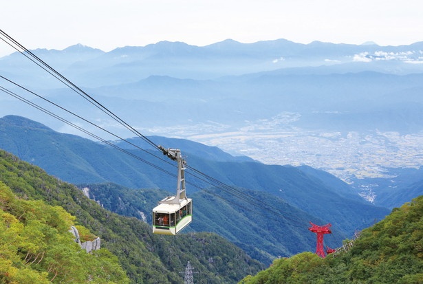
<instances>
[{"instance_id":1,"label":"bright green wooded hillside in lower right corner, beside red pylon","mask_svg":"<svg viewBox=\"0 0 423 284\"><path fill-rule=\"evenodd\" d=\"M423 283L423 195L362 230L347 252L277 259L239 283Z\"/></svg>"}]
</instances>

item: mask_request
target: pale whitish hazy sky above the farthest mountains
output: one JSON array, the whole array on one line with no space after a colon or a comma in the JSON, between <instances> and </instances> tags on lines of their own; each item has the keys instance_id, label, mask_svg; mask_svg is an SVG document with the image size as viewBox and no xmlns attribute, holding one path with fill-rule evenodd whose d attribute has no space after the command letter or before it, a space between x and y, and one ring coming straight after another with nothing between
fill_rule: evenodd
<instances>
[{"instance_id":1,"label":"pale whitish hazy sky above the farthest mountains","mask_svg":"<svg viewBox=\"0 0 423 284\"><path fill-rule=\"evenodd\" d=\"M422 0L5 0L0 29L29 49L109 51L184 41L423 41ZM12 50L0 41L0 56Z\"/></svg>"}]
</instances>

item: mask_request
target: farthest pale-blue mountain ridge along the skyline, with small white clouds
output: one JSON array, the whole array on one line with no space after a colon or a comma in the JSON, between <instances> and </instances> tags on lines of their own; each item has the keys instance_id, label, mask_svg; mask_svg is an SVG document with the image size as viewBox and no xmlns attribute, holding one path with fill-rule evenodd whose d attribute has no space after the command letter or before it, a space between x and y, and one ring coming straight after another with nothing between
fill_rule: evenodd
<instances>
[{"instance_id":1,"label":"farthest pale-blue mountain ridge along the skyline, with small white clouds","mask_svg":"<svg viewBox=\"0 0 423 284\"><path fill-rule=\"evenodd\" d=\"M420 50L423 50L423 42L380 46L320 41L303 44L285 39L239 43L228 39L204 47L161 41L144 47L118 47L110 52L102 52L80 44L72 45L65 50L38 49L33 52L45 62L74 78L78 81L78 85L99 87L130 83L151 75L206 79L287 67L369 62L373 59L395 60L397 63L407 60L419 61ZM384 57L385 54L388 56ZM0 70L6 71L4 66L10 62L14 63L14 67L21 68L19 63L24 61L25 59L17 53L3 56L0 58ZM407 70L416 69L421 71L418 65L402 65L402 73L405 74L409 73ZM87 78L89 80L86 80Z\"/></svg>"}]
</instances>

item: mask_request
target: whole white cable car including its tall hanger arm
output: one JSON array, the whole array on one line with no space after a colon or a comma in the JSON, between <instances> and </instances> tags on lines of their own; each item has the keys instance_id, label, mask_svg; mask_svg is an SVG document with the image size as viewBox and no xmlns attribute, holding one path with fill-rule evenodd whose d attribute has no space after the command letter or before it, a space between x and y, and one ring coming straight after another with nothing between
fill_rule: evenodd
<instances>
[{"instance_id":1,"label":"whole white cable car including its tall hanger arm","mask_svg":"<svg viewBox=\"0 0 423 284\"><path fill-rule=\"evenodd\" d=\"M153 208L153 233L177 234L193 221L193 200L186 197L185 161L179 149L160 150L177 162L177 189L175 196L168 196Z\"/></svg>"}]
</instances>

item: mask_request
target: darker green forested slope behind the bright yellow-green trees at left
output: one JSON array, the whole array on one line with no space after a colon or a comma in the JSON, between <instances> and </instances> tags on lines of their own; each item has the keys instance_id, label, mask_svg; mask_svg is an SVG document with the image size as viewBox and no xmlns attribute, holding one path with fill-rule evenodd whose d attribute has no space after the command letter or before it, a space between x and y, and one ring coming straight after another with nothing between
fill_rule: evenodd
<instances>
[{"instance_id":1,"label":"darker green forested slope behind the bright yellow-green trees at left","mask_svg":"<svg viewBox=\"0 0 423 284\"><path fill-rule=\"evenodd\" d=\"M101 208L72 184L5 151L0 151L0 181L21 199L63 206L76 224L100 237L102 248L118 257L131 283L184 283L180 272L188 261L199 272L195 283L237 283L263 269L216 234L154 235L149 224Z\"/></svg>"}]
</instances>

